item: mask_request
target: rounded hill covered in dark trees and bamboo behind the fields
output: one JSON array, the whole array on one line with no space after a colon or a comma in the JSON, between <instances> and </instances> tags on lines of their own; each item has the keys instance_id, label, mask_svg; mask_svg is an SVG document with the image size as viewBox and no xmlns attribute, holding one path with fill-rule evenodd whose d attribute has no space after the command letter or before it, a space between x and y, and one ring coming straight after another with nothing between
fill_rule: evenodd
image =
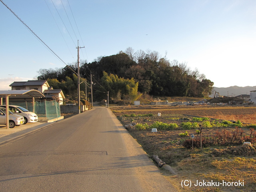
<instances>
[{"instance_id":1,"label":"rounded hill covered in dark trees and bamboo behind the fields","mask_svg":"<svg viewBox=\"0 0 256 192\"><path fill-rule=\"evenodd\" d=\"M64 94L75 97L77 76L70 68L77 72L77 64L40 69L38 80L48 80L54 89L61 88ZM94 62L80 62L80 77L90 83L91 74L95 100L105 99L107 91L113 100L128 98L128 94L136 91L154 96L208 97L214 84L197 69L188 68L186 62L170 62L156 51L135 52L132 48L116 55L98 57ZM80 90L85 93L85 84L81 84ZM87 92L90 94L89 88ZM129 98L136 99L135 96Z\"/></svg>"}]
</instances>

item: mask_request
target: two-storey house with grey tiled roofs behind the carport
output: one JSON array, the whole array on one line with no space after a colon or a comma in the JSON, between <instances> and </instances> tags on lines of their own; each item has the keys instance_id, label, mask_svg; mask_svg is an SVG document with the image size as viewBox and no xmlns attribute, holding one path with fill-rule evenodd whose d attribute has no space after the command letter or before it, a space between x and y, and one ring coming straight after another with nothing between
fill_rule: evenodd
<instances>
[{"instance_id":1,"label":"two-storey house with grey tiled roofs behind the carport","mask_svg":"<svg viewBox=\"0 0 256 192\"><path fill-rule=\"evenodd\" d=\"M54 90L49 86L46 80L28 80L28 81L18 81L13 82L9 85L12 87L12 90L38 90L45 97L36 98L36 101L52 101L56 100L60 105L63 104L63 99L65 98L61 89ZM20 102L20 98L12 98L13 102ZM22 98L22 101L29 101L31 98Z\"/></svg>"}]
</instances>

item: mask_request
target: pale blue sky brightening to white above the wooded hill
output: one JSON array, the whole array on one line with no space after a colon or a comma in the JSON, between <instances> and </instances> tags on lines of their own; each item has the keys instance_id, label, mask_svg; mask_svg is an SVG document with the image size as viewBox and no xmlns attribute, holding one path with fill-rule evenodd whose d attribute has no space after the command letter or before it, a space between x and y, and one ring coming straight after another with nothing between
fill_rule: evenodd
<instances>
[{"instance_id":1,"label":"pale blue sky brightening to white above the wooded hill","mask_svg":"<svg viewBox=\"0 0 256 192\"><path fill-rule=\"evenodd\" d=\"M256 86L256 1L0 0L0 90L76 62L78 45L87 62L131 47L186 62L215 87Z\"/></svg>"}]
</instances>

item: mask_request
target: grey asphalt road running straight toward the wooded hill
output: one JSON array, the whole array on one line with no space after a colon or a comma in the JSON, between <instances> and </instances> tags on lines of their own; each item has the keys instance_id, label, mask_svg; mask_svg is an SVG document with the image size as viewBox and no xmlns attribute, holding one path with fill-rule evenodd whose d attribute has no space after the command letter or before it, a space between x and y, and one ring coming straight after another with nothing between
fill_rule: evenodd
<instances>
[{"instance_id":1,"label":"grey asphalt road running straight toward the wooded hill","mask_svg":"<svg viewBox=\"0 0 256 192\"><path fill-rule=\"evenodd\" d=\"M175 191L108 108L0 146L0 191Z\"/></svg>"}]
</instances>

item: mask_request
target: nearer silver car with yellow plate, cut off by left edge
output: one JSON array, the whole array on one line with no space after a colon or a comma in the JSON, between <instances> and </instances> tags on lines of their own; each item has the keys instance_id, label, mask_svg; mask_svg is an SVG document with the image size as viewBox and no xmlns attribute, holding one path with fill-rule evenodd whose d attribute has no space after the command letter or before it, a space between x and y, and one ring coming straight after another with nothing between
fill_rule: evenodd
<instances>
[{"instance_id":1,"label":"nearer silver car with yellow plate, cut off by left edge","mask_svg":"<svg viewBox=\"0 0 256 192\"><path fill-rule=\"evenodd\" d=\"M0 124L6 125L6 108L0 107ZM24 124L24 117L9 111L9 128Z\"/></svg>"}]
</instances>

